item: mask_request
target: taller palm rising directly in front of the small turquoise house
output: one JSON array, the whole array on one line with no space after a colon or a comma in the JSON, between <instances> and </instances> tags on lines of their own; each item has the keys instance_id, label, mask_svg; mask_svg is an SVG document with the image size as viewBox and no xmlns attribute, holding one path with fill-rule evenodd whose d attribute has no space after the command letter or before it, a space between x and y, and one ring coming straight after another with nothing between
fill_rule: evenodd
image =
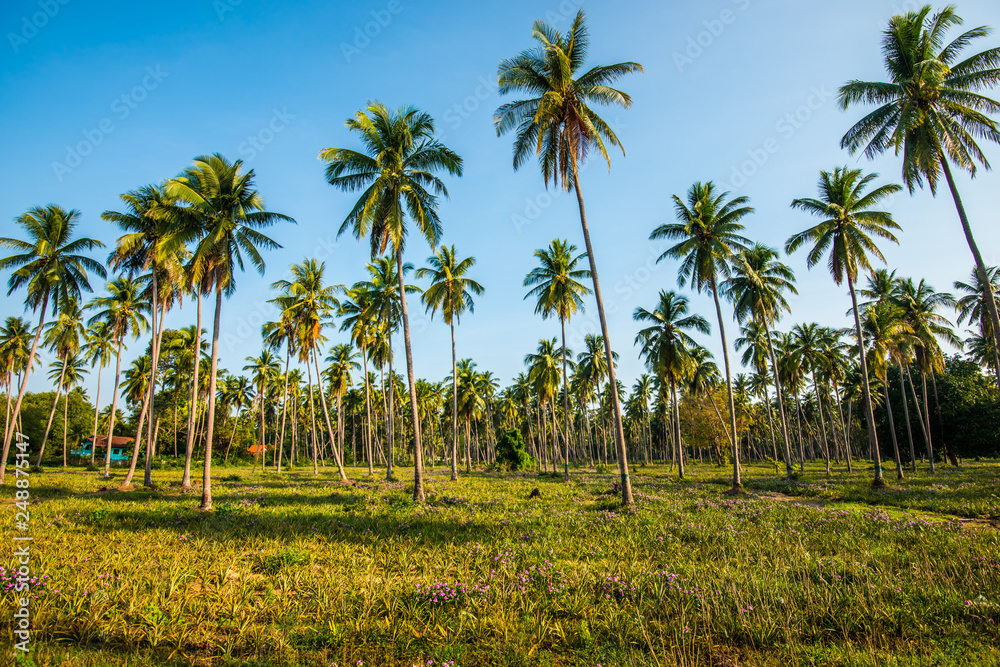
<instances>
[{"instance_id":1,"label":"taller palm rising directly in front of the small turquoise house","mask_svg":"<svg viewBox=\"0 0 1000 667\"><path fill-rule=\"evenodd\" d=\"M111 477L111 437L115 432L115 406L118 403L118 388L121 386L122 347L126 336L137 339L149 327L146 313L149 312L149 301L142 297L143 280L119 276L108 283L107 296L92 299L88 308L97 310L97 314L87 322L88 326L104 323L111 333L115 345L115 389L111 396L111 418L108 420L108 442L104 455L104 478ZM136 443L138 445L138 443ZM96 448L97 441L94 441ZM133 459L134 460L134 459Z\"/></svg>"}]
</instances>

